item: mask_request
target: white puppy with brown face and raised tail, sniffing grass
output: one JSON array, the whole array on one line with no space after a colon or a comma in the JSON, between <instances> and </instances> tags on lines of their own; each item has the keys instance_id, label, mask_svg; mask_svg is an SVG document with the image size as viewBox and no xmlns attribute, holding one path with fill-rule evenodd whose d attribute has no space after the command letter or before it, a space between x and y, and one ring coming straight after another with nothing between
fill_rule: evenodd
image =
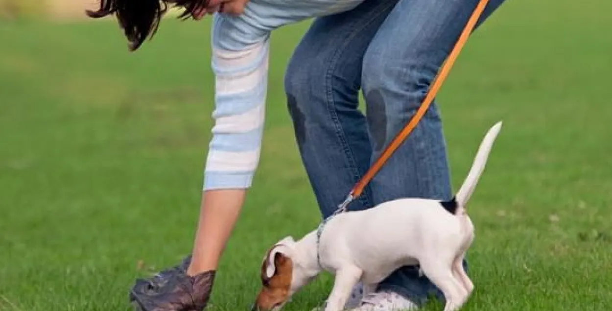
<instances>
[{"instance_id":1,"label":"white puppy with brown face and raised tail, sniffing grass","mask_svg":"<svg viewBox=\"0 0 612 311\"><path fill-rule=\"evenodd\" d=\"M269 249L261 265L262 288L252 310L280 310L323 271L335 275L325 311L340 311L358 282L364 295L402 266L420 270L444 294L444 311L460 309L474 284L463 269L474 241L466 212L502 122L487 132L467 178L449 201L400 198L365 211L330 217L299 241L288 236Z\"/></svg>"}]
</instances>

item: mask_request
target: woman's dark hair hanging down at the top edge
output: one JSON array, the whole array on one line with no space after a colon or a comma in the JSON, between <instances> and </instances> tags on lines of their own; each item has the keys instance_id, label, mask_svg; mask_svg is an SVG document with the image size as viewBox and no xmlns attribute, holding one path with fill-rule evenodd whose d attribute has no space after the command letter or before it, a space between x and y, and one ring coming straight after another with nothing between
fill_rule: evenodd
<instances>
[{"instance_id":1,"label":"woman's dark hair hanging down at the top edge","mask_svg":"<svg viewBox=\"0 0 612 311\"><path fill-rule=\"evenodd\" d=\"M209 0L100 0L97 11L87 10L91 18L116 15L119 25L129 40L130 51L140 48L144 40L152 38L159 27L168 3L183 7L179 18L189 18L197 9L205 8Z\"/></svg>"}]
</instances>

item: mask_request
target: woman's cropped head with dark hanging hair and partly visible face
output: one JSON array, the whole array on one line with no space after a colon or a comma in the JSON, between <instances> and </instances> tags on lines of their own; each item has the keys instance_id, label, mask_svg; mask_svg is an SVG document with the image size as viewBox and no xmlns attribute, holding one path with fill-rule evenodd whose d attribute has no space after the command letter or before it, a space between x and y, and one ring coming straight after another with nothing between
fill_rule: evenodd
<instances>
[{"instance_id":1,"label":"woman's cropped head with dark hanging hair and partly visible face","mask_svg":"<svg viewBox=\"0 0 612 311\"><path fill-rule=\"evenodd\" d=\"M87 10L91 18L116 15L119 26L129 41L129 50L140 48L144 40L152 38L159 28L168 6L183 10L179 18L200 20L206 13L240 14L248 0L100 0L97 10Z\"/></svg>"}]
</instances>

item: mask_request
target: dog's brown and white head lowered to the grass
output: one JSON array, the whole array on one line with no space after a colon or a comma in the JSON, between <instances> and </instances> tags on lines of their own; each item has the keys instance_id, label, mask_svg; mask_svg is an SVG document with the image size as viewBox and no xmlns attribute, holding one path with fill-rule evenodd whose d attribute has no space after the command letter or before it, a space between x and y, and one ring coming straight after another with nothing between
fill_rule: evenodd
<instances>
[{"instance_id":1,"label":"dog's brown and white head lowered to the grass","mask_svg":"<svg viewBox=\"0 0 612 311\"><path fill-rule=\"evenodd\" d=\"M280 310L291 296L313 279L296 258L296 242L290 236L269 249L261 264L261 291L253 311Z\"/></svg>"}]
</instances>

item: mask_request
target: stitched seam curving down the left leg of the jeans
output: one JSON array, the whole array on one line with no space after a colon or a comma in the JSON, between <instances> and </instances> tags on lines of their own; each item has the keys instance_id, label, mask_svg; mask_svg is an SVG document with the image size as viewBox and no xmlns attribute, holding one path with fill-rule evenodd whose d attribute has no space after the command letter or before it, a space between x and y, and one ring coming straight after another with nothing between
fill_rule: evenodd
<instances>
[{"instance_id":1,"label":"stitched seam curving down the left leg of the jeans","mask_svg":"<svg viewBox=\"0 0 612 311\"><path fill-rule=\"evenodd\" d=\"M325 84L327 88L326 89L327 111L329 112L330 117L332 118L332 121L334 121L335 133L337 135L338 140L340 140L341 148L345 152L345 156L348 159L348 166L352 171L351 173L353 173L355 182L359 181L359 178L360 178L359 171L357 170L355 156L351 148L349 148L348 141L346 140L346 134L344 133L344 130L342 129L340 118L338 118L338 114L334 106L334 94L333 94L333 88L331 86L332 84L331 78L337 66L338 59L340 59L341 54L345 50L344 47L346 46L347 42L352 40L356 36L357 33L361 32L364 28L369 26L372 23L372 21L376 17L378 17L382 12L384 12L384 10L386 10L387 8L388 6L382 7L380 10L378 10L378 12L371 14L370 20L368 20L367 23L362 23L363 25L362 27L357 28L357 29L353 28L353 31L349 32L348 36L345 37L346 39L342 42L342 44L338 45L339 48L337 48L337 50L334 53L334 56L332 56L332 59L329 62L329 69L327 70L325 74L325 81L326 81ZM354 23L354 24L358 24L358 23ZM360 198L359 200L364 201L365 206L371 206L371 202L373 202L371 198L368 198L367 193L363 193L362 198Z\"/></svg>"}]
</instances>

